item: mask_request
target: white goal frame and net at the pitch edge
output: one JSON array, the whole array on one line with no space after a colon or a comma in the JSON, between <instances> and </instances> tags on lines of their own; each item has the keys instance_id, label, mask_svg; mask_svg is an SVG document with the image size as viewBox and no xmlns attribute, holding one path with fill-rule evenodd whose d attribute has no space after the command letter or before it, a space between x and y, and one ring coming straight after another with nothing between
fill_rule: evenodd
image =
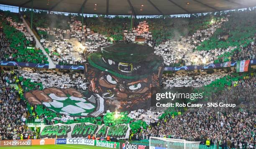
<instances>
[{"instance_id":1,"label":"white goal frame and net at the pitch edge","mask_svg":"<svg viewBox=\"0 0 256 149\"><path fill-rule=\"evenodd\" d=\"M149 138L149 149L199 149L200 142L170 138Z\"/></svg>"}]
</instances>

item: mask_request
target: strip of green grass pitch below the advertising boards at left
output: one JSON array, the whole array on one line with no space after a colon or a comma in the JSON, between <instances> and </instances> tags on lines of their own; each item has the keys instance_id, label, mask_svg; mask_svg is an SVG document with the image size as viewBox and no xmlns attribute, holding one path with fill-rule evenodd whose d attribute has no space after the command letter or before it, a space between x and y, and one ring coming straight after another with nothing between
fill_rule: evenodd
<instances>
[{"instance_id":1,"label":"strip of green grass pitch below the advertising boards at left","mask_svg":"<svg viewBox=\"0 0 256 149\"><path fill-rule=\"evenodd\" d=\"M56 144L56 145L33 145L33 146L5 146L0 149L110 149L107 147L81 145L81 144Z\"/></svg>"}]
</instances>

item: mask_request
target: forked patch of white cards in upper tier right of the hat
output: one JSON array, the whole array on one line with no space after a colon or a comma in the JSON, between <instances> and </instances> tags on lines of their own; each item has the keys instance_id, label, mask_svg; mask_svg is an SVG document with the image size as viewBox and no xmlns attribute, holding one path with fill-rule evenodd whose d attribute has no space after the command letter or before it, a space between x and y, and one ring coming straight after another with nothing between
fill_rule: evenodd
<instances>
[{"instance_id":1,"label":"forked patch of white cards in upper tier right of the hat","mask_svg":"<svg viewBox=\"0 0 256 149\"><path fill-rule=\"evenodd\" d=\"M222 18L216 20L210 24L208 28L195 31L191 36L182 36L180 40L166 40L155 47L155 54L164 58L164 64L166 66L172 66L175 63L181 63L182 65L194 65L202 63L213 63L214 56L218 56L225 50L220 49L211 51L196 51L193 53L193 49L197 47L201 41L209 40L209 38L215 33L217 28L228 21L228 18ZM230 51L228 48L226 51Z\"/></svg>"}]
</instances>

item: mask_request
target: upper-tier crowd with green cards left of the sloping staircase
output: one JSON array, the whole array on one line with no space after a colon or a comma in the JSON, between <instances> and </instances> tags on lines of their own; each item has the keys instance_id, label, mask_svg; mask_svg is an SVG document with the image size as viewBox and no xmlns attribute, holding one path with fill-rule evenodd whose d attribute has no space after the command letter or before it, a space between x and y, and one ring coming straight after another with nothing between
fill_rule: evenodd
<instances>
[{"instance_id":1,"label":"upper-tier crowd with green cards left of the sloping staircase","mask_svg":"<svg viewBox=\"0 0 256 149\"><path fill-rule=\"evenodd\" d=\"M0 11L0 60L48 63L18 14Z\"/></svg>"}]
</instances>

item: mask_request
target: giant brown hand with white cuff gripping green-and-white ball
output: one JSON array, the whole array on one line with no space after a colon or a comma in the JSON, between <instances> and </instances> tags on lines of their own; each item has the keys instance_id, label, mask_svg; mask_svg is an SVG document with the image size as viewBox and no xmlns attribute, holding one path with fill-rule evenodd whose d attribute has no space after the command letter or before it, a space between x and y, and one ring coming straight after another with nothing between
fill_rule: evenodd
<instances>
[{"instance_id":1,"label":"giant brown hand with white cuff gripping green-and-white ball","mask_svg":"<svg viewBox=\"0 0 256 149\"><path fill-rule=\"evenodd\" d=\"M95 99L90 101L88 97L84 97L80 91L74 88L45 88L44 90L32 90L24 94L26 100L30 104L41 104L47 109L70 116L87 116L95 112L99 115L104 109L104 99ZM91 95L92 96L92 95ZM93 97L91 97L93 99Z\"/></svg>"}]
</instances>

